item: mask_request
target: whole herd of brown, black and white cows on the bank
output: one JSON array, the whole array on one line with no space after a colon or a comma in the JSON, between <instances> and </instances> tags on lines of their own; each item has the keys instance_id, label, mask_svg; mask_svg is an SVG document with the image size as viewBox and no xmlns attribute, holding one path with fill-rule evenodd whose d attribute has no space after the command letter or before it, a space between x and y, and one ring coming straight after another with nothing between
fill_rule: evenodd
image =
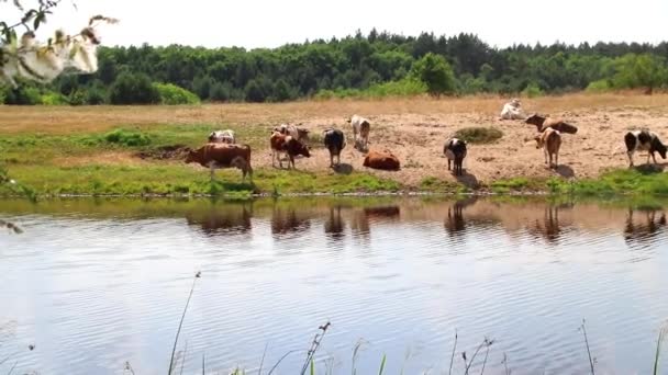
<instances>
[{"instance_id":1,"label":"whole herd of brown, black and white cows on the bank","mask_svg":"<svg viewBox=\"0 0 668 375\"><path fill-rule=\"evenodd\" d=\"M534 139L536 148L543 149L545 163L549 168L557 168L559 161L559 149L561 147L561 134L576 134L578 128L566 123L561 118L545 117L537 114L524 116L521 103L513 99L505 103L501 111L500 120L524 120L526 124L535 125L537 134ZM369 120L359 115L353 115L347 120L350 124L354 137L354 147L365 154L364 167L380 170L399 170L399 159L388 150L369 150L369 135L371 123ZM288 168L294 167L294 158L298 156L311 157L309 146L309 130L296 125L281 124L271 130L269 145L271 148L271 164L282 168L283 155L288 159ZM342 129L329 128L323 132L323 143L330 151L330 167L335 168L341 163L341 151L346 147L346 137ZM647 151L647 162L649 157L656 163L655 154L658 152L666 159L667 147L661 143L658 135L648 129L632 130L624 135L624 144L628 156L630 167L633 167L633 155L636 151ZM445 141L443 155L447 158L447 169L450 170L454 163L455 175L464 173L463 163L467 155L467 143L464 139L452 137ZM336 158L336 163L334 163ZM216 130L209 135L208 143L196 149L190 150L186 157L186 162L197 162L202 167L210 168L213 179L214 170L221 168L237 168L242 170L243 179L246 175L253 178L253 167L250 166L250 147L236 143L233 130Z\"/></svg>"}]
</instances>

